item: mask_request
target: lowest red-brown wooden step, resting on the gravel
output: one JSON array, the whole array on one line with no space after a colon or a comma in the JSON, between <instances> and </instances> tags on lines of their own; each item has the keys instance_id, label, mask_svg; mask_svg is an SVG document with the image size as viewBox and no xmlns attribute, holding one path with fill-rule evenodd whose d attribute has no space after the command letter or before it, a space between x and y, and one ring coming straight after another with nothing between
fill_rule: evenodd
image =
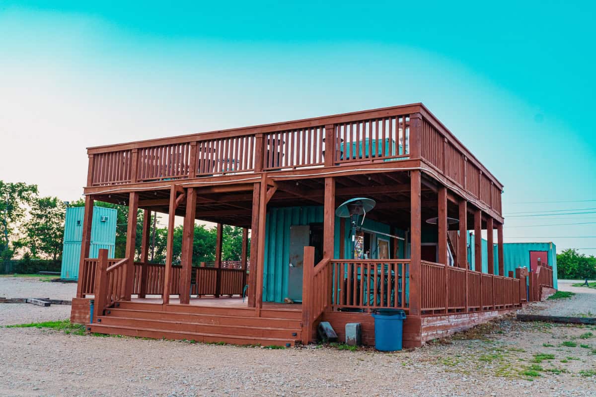
<instances>
[{"instance_id":1,"label":"lowest red-brown wooden step, resting on the gravel","mask_svg":"<svg viewBox=\"0 0 596 397\"><path fill-rule=\"evenodd\" d=\"M91 332L109 334L109 335L125 335L136 337L150 337L153 339L187 339L195 340L196 342L225 342L234 345L261 345L261 346L294 346L296 340L283 339L275 337L254 337L254 336L231 336L213 333L202 332L181 332L181 331L164 331L151 328L103 325L103 324L88 324Z\"/></svg>"}]
</instances>

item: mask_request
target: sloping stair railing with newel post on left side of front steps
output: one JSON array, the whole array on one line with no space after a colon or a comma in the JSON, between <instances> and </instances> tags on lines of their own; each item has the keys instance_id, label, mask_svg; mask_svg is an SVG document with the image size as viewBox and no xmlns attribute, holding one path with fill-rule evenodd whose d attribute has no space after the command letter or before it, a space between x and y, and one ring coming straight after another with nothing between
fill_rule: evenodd
<instances>
[{"instance_id":1,"label":"sloping stair railing with newel post on left side of front steps","mask_svg":"<svg viewBox=\"0 0 596 397\"><path fill-rule=\"evenodd\" d=\"M95 271L93 321L103 315L105 308L125 296L125 274L128 258L108 266L108 250L100 249Z\"/></svg>"}]
</instances>

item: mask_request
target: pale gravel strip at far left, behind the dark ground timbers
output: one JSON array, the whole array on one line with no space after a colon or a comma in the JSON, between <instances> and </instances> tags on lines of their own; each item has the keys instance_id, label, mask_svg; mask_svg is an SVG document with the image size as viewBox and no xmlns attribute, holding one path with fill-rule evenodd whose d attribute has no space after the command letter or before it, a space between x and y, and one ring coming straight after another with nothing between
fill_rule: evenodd
<instances>
[{"instance_id":1,"label":"pale gravel strip at far left, behind the dark ground timbers","mask_svg":"<svg viewBox=\"0 0 596 397\"><path fill-rule=\"evenodd\" d=\"M40 282L37 277L0 277L1 298L72 299L76 283Z\"/></svg>"}]
</instances>

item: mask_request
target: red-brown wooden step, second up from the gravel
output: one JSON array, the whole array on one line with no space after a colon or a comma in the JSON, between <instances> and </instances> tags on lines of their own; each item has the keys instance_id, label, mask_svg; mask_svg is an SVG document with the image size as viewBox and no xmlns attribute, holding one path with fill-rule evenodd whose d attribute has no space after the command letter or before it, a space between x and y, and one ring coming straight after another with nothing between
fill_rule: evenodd
<instances>
[{"instance_id":1,"label":"red-brown wooden step, second up from the gravel","mask_svg":"<svg viewBox=\"0 0 596 397\"><path fill-rule=\"evenodd\" d=\"M281 339L300 339L299 329L288 329L268 326L242 326L204 324L188 321L167 321L138 317L114 317L104 315L100 317L101 325L126 326L142 329L175 330L178 332L207 333L230 336L274 337ZM266 319L265 319L266 320ZM266 321L263 321L266 324ZM295 335L293 335L295 334Z\"/></svg>"}]
</instances>

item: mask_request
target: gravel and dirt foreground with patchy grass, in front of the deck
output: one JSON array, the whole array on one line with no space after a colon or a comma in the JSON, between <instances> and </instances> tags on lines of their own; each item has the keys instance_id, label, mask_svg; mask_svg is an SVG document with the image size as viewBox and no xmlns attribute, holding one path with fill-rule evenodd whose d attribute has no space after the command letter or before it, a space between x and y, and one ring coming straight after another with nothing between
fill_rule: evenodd
<instances>
[{"instance_id":1,"label":"gravel and dirt foreground with patchy grass, in front of the deck","mask_svg":"<svg viewBox=\"0 0 596 397\"><path fill-rule=\"evenodd\" d=\"M10 321L39 321L32 305L0 313L8 305ZM596 396L596 326L505 318L391 354L2 327L0 369L0 396Z\"/></svg>"}]
</instances>

